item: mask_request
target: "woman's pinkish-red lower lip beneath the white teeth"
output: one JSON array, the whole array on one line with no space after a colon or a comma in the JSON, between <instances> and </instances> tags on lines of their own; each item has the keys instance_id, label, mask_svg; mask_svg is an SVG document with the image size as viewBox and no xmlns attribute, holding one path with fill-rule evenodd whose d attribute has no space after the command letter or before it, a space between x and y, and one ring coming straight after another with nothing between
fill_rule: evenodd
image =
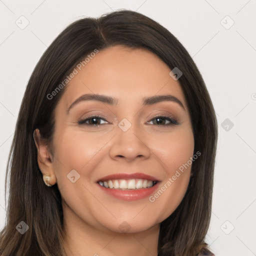
<instances>
[{"instance_id":1,"label":"woman's pinkish-red lower lip beneath the white teeth","mask_svg":"<svg viewBox=\"0 0 256 256\"><path fill-rule=\"evenodd\" d=\"M112 195L113 197L125 201L133 201L133 200L139 200L142 198L145 198L149 196L151 193L153 193L154 190L159 185L159 182L157 182L155 185L149 187L149 188L139 188L139 189L129 189L129 190L120 190L115 188L106 188L104 186L101 186L97 183L97 185L103 189L103 191L109 195Z\"/></svg>"}]
</instances>

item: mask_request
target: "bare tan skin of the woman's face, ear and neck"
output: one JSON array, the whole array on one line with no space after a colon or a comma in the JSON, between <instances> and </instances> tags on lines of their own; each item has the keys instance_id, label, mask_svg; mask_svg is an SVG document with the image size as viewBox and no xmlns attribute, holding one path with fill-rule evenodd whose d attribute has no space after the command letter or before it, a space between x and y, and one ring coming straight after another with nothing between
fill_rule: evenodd
<instances>
[{"instance_id":1,"label":"bare tan skin of the woman's face, ear and neck","mask_svg":"<svg viewBox=\"0 0 256 256\"><path fill-rule=\"evenodd\" d=\"M50 184L57 182L61 193L68 256L157 255L160 222L181 202L191 166L153 202L148 197L116 199L96 181L118 172L143 172L157 177L160 188L193 156L187 105L169 72L145 49L118 45L101 50L71 79L56 106L53 150L35 139L40 170L50 176ZM114 96L118 104L81 101L67 113L85 93ZM143 97L160 94L177 97L185 109L172 101L142 105ZM106 119L98 119L98 127L77 123L98 114ZM179 125L164 126L168 119L157 124L155 115L171 115ZM131 123L125 132L118 127L123 118ZM80 175L74 183L67 178L72 169ZM129 225L127 233L118 228L123 221Z\"/></svg>"}]
</instances>

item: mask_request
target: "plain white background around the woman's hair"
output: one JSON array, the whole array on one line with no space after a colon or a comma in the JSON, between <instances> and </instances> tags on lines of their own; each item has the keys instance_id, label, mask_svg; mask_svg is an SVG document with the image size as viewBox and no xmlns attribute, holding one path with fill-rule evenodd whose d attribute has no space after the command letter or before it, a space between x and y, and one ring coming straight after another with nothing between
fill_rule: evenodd
<instances>
[{"instance_id":1,"label":"plain white background around the woman's hair","mask_svg":"<svg viewBox=\"0 0 256 256\"><path fill-rule=\"evenodd\" d=\"M35 64L74 20L120 8L158 21L198 66L219 130L207 242L216 256L256 255L256 0L0 0L0 228L7 156ZM15 23L21 15L29 21L24 29ZM234 124L229 130L221 126L226 118Z\"/></svg>"}]
</instances>

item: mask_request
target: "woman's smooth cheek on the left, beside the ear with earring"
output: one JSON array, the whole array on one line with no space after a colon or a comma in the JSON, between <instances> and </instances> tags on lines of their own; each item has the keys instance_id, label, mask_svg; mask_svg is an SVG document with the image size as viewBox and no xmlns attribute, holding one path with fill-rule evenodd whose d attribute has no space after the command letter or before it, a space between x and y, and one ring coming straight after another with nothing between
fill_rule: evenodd
<instances>
[{"instance_id":1,"label":"woman's smooth cheek on the left, beside the ear with earring","mask_svg":"<svg viewBox=\"0 0 256 256\"><path fill-rule=\"evenodd\" d=\"M56 132L57 134L57 132ZM101 148L105 144L96 133L66 129L55 137L54 171L63 202L79 216L90 216L95 204L91 194L93 170L102 159Z\"/></svg>"}]
</instances>

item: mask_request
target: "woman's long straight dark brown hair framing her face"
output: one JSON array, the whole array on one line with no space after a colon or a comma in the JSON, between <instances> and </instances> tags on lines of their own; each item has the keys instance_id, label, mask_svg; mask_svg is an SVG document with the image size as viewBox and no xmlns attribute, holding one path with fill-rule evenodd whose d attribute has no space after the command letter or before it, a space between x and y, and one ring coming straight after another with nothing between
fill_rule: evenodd
<instances>
[{"instance_id":1,"label":"woman's long straight dark brown hair framing her face","mask_svg":"<svg viewBox=\"0 0 256 256\"><path fill-rule=\"evenodd\" d=\"M50 143L54 109L65 88L51 93L74 66L94 49L113 45L143 48L156 54L170 69L178 67L178 82L189 109L194 152L201 155L191 166L187 191L175 211L160 223L158 256L198 253L211 215L217 121L205 83L181 43L156 21L135 11L119 10L99 18L82 18L67 26L35 66L19 110L5 178L9 173L6 223L0 232L0 253L7 255L63 256L63 213L57 184L47 187L37 164L35 128ZM9 171L8 171L9 170ZM5 202L6 203L6 202ZM20 234L16 225L29 229Z\"/></svg>"}]
</instances>

